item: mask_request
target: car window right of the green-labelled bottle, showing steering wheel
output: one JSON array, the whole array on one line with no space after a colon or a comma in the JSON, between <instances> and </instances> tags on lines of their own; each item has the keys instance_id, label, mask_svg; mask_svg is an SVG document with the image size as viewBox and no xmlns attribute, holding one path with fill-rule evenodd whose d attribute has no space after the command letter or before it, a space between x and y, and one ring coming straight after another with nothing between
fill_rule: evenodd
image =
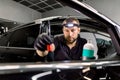
<instances>
[{"instance_id":1,"label":"car window right of the green-labelled bottle, showing steering wheel","mask_svg":"<svg viewBox=\"0 0 120 80\"><path fill-rule=\"evenodd\" d=\"M115 48L111 41L110 36L104 34L95 34L97 47L98 47L98 56L99 58L105 58L113 53L115 53Z\"/></svg>"}]
</instances>

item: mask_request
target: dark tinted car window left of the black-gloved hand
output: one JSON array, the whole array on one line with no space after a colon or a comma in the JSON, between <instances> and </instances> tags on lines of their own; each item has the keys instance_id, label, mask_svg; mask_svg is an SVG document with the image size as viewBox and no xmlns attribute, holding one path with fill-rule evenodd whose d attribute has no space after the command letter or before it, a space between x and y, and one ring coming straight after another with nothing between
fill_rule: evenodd
<instances>
[{"instance_id":1,"label":"dark tinted car window left of the black-gloved hand","mask_svg":"<svg viewBox=\"0 0 120 80\"><path fill-rule=\"evenodd\" d=\"M10 41L10 47L33 48L34 41L39 33L39 25L32 25L14 31Z\"/></svg>"}]
</instances>

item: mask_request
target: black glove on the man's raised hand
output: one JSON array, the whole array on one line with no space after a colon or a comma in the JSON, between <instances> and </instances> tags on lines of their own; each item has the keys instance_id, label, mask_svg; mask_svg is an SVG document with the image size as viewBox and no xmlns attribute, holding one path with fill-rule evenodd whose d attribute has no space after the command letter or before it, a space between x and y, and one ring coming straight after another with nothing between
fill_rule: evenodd
<instances>
[{"instance_id":1,"label":"black glove on the man's raised hand","mask_svg":"<svg viewBox=\"0 0 120 80\"><path fill-rule=\"evenodd\" d=\"M53 37L48 36L46 33L40 34L35 43L34 43L34 48L37 50L45 51L47 50L47 45L53 43Z\"/></svg>"}]
</instances>

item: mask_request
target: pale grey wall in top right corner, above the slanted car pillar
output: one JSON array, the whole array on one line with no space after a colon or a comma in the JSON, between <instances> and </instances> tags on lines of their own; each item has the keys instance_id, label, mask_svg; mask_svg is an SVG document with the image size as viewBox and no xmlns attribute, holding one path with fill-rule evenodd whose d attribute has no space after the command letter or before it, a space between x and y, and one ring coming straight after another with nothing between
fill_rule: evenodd
<instances>
[{"instance_id":1,"label":"pale grey wall in top right corner, above the slanted car pillar","mask_svg":"<svg viewBox=\"0 0 120 80\"><path fill-rule=\"evenodd\" d=\"M86 3L120 24L120 0L86 0Z\"/></svg>"}]
</instances>

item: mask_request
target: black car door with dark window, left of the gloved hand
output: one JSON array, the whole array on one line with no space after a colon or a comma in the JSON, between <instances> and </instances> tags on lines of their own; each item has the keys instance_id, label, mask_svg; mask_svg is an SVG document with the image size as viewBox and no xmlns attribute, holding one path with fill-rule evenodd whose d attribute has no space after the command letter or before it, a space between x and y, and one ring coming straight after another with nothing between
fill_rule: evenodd
<instances>
[{"instance_id":1,"label":"black car door with dark window, left of the gloved hand","mask_svg":"<svg viewBox=\"0 0 120 80\"><path fill-rule=\"evenodd\" d=\"M39 24L32 24L9 32L1 40L1 61L18 62L32 61L35 50L34 41L39 33Z\"/></svg>"}]
</instances>

